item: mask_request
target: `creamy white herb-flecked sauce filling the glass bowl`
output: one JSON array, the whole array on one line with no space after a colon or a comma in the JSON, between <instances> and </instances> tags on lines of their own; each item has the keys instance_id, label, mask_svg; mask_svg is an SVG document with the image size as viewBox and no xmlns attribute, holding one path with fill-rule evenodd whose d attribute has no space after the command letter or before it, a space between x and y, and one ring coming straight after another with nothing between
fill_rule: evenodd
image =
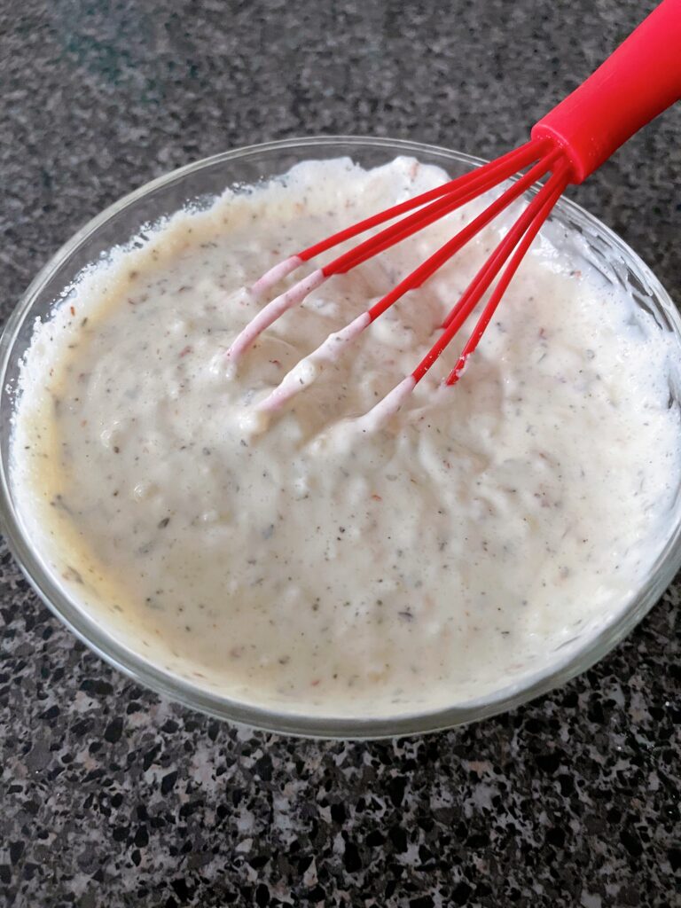
<instances>
[{"instance_id":1,"label":"creamy white herb-flecked sauce filling the glass bowl","mask_svg":"<svg viewBox=\"0 0 681 908\"><path fill-rule=\"evenodd\" d=\"M178 213L36 325L15 497L54 575L131 649L252 704L388 716L519 684L627 604L679 483L669 341L556 225L459 384L439 381L465 331L382 427L357 418L429 349L498 230L263 401L470 208L226 358L330 256L263 299L247 288L264 271L444 179L408 158L302 163Z\"/></svg>"}]
</instances>

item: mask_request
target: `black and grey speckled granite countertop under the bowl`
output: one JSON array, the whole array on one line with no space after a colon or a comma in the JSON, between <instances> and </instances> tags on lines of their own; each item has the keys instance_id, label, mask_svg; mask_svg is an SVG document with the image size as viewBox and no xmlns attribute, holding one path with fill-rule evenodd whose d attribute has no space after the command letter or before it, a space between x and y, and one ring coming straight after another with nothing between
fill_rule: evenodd
<instances>
[{"instance_id":1,"label":"black and grey speckled granite countertop under the bowl","mask_svg":"<svg viewBox=\"0 0 681 908\"><path fill-rule=\"evenodd\" d=\"M651 7L2 0L3 316L86 219L207 154L301 133L499 153ZM570 192L676 301L679 140L681 107ZM568 686L373 744L173 706L77 643L6 548L0 587L3 905L680 903L678 585Z\"/></svg>"}]
</instances>

